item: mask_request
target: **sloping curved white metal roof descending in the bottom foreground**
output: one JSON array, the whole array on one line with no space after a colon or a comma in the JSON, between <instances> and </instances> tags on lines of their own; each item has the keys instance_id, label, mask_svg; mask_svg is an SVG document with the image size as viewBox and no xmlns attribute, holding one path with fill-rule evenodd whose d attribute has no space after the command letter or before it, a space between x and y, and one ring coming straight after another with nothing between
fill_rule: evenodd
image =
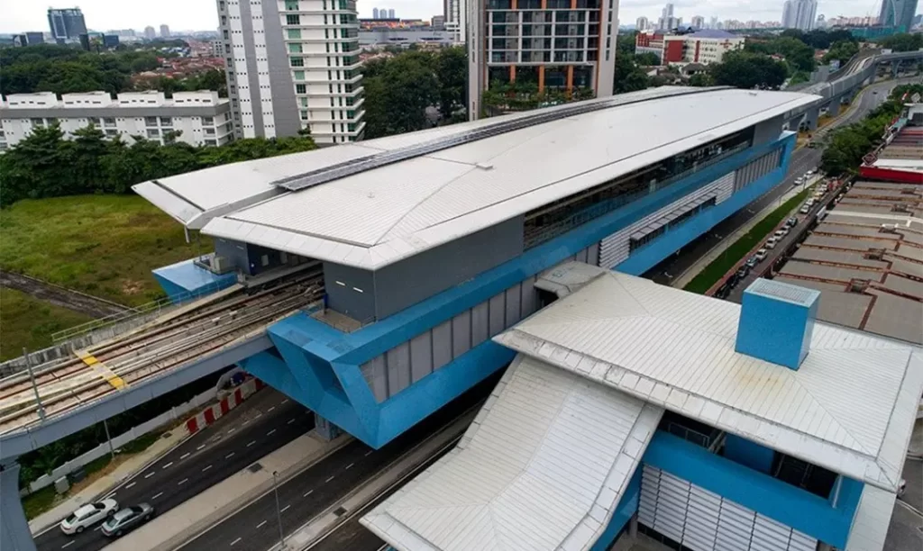
<instances>
[{"instance_id":1,"label":"sloping curved white metal roof descending in the bottom foreground","mask_svg":"<svg viewBox=\"0 0 923 551\"><path fill-rule=\"evenodd\" d=\"M519 356L459 445L361 522L401 551L589 549L663 413Z\"/></svg>"}]
</instances>

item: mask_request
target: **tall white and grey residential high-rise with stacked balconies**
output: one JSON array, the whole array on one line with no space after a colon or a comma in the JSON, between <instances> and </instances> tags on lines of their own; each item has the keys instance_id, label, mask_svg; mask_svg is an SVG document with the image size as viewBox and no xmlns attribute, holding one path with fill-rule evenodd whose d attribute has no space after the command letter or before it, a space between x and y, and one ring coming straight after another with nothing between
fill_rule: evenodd
<instances>
[{"instance_id":1,"label":"tall white and grey residential high-rise with stacked balconies","mask_svg":"<svg viewBox=\"0 0 923 551\"><path fill-rule=\"evenodd\" d=\"M354 0L218 0L238 137L362 139L366 123Z\"/></svg>"}]
</instances>

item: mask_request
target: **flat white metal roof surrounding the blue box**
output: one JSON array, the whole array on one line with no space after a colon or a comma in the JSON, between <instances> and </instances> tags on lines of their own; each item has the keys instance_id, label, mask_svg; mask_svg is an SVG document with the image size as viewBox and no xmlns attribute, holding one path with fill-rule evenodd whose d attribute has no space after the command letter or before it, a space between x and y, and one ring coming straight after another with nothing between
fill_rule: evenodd
<instances>
[{"instance_id":1,"label":"flat white metal roof surrounding the blue box","mask_svg":"<svg viewBox=\"0 0 923 551\"><path fill-rule=\"evenodd\" d=\"M494 339L559 368L893 492L923 349L816 322L787 369L734 350L740 306L603 269Z\"/></svg>"}]
</instances>

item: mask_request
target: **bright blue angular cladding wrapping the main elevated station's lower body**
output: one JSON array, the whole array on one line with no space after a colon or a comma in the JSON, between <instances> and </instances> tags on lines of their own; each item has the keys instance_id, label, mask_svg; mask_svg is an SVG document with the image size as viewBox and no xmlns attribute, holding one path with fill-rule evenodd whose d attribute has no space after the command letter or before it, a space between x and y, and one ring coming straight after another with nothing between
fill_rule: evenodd
<instances>
[{"instance_id":1,"label":"bright blue angular cladding wrapping the main elevated station's lower body","mask_svg":"<svg viewBox=\"0 0 923 551\"><path fill-rule=\"evenodd\" d=\"M513 354L502 346L486 342L381 404L376 402L362 376L360 366L366 361L564 261L617 229L624 228L641 217L681 199L773 148L784 148L783 158L786 163L794 143L794 135L785 133L774 142L740 152L691 175L684 181L624 205L555 240L534 247L507 263L487 270L462 285L452 287L354 333L343 334L306 314L291 316L274 324L269 330L270 338L276 343L281 358L260 355L248 360L244 367L273 386L276 384L272 381L279 381L284 388L277 388L290 393L299 402L320 416L330 419L332 423L366 444L373 447L383 446L439 406L448 403L475 383L483 381L485 377L507 365ZM784 174L785 164L761 181L750 184L732 196L725 201L728 204L725 207L728 211L725 216L730 214L731 208L746 205L749 200L777 184ZM741 198L737 198L738 195ZM658 258L656 251L662 251L663 255L673 252L698 237L697 232L711 228L720 219L714 217L715 210L716 207L701 213L704 221L700 222L698 217L692 217L689 222L661 238L668 241L668 252L662 251L664 245L659 242L660 240L654 240L642 250L642 254L629 258L631 269L627 271L641 273L663 258ZM278 369L291 369L292 376L272 372ZM294 388L293 383L300 388Z\"/></svg>"}]
</instances>

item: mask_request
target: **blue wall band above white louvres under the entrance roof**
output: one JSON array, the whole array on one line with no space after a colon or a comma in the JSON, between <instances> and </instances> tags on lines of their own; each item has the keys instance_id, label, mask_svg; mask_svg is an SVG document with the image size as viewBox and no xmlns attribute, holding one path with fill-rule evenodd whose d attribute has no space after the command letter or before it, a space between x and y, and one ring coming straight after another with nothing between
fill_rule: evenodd
<instances>
[{"instance_id":1,"label":"blue wall band above white louvres under the entrance roof","mask_svg":"<svg viewBox=\"0 0 923 551\"><path fill-rule=\"evenodd\" d=\"M845 548L862 484L844 479L838 507L831 501L657 431L641 459L821 542Z\"/></svg>"}]
</instances>

